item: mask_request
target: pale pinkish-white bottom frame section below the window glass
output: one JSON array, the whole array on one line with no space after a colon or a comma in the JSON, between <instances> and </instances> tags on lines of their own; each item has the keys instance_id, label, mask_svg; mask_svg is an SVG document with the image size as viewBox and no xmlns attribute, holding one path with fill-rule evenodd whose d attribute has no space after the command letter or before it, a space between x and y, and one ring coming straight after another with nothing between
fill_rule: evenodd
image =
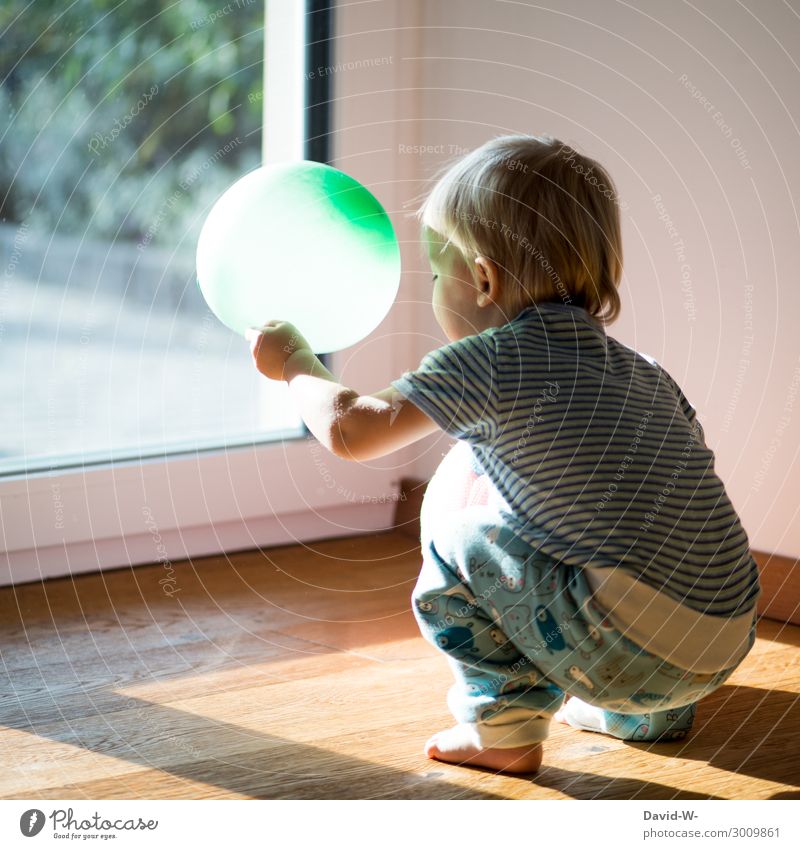
<instances>
[{"instance_id":1,"label":"pale pinkish-white bottom frame section below the window glass","mask_svg":"<svg viewBox=\"0 0 800 849\"><path fill-rule=\"evenodd\" d=\"M312 438L8 478L0 585L382 531L397 494Z\"/></svg>"}]
</instances>

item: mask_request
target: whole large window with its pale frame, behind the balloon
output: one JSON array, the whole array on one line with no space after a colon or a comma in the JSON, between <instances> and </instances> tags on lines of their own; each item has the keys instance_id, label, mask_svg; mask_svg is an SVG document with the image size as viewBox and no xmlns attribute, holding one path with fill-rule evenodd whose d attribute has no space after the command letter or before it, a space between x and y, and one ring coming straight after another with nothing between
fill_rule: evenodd
<instances>
[{"instance_id":1,"label":"whole large window with its pale frame, behind the balloon","mask_svg":"<svg viewBox=\"0 0 800 849\"><path fill-rule=\"evenodd\" d=\"M209 174L221 175L227 168L230 173L225 179L219 177L219 188L224 188L257 164L259 139L264 159L280 161L302 158L304 152L306 158L326 158L329 142L337 138L340 160L333 164L362 179L366 176L366 185L383 195L385 206L395 208L398 181L390 150L369 154L388 155L385 162L366 161L357 150L363 143L358 127L374 120L375 106L353 99L351 90L358 77L339 72L363 64L355 61L357 42L345 33L335 42L337 55L332 55L338 24L328 8L331 4L324 0L306 4L266 0L266 12L260 2L246 0L227 5L216 0L181 4L127 0L111 6L100 0L77 0L64 9L45 12L42 7L47 5L14 0L0 9L3 108L11 108L14 118L0 128L0 197L4 199L0 218L7 225L0 284L0 379L6 381L0 436L5 463L0 474L0 584L137 563L167 566L185 557L311 542L390 526L399 458L391 458L385 466L348 463L327 455L304 435L290 406L270 396L278 390L252 369L246 342L231 338L227 331L222 330L226 335L220 337L216 328L209 329L216 319L196 300L194 269L188 259L194 252L192 228L202 223L215 197L209 190L195 203L196 187ZM149 11L141 11L142 7ZM70 10L75 12L72 18L67 15ZM124 28L122 20L110 17L119 11L134 16L134 37L126 38L130 26ZM341 13L345 28L355 25L346 8L336 12L337 20ZM164 28L154 27L155 20L161 20ZM101 49L97 39L108 31L113 33L111 43ZM217 35L211 36L212 32ZM223 37L226 32L231 34ZM384 32L381 55L399 55L395 31ZM105 38L108 42L109 36ZM187 49L194 45L195 53L173 62L168 49L178 42ZM11 69L21 69L28 48L34 47L41 48L36 54L39 64L31 65L25 75L16 73L9 86ZM112 86L105 101L105 90L81 99L80 85L74 81L86 82L95 66L108 61L109 50L116 59L114 67L125 68L120 79L132 88ZM236 55L246 58L236 59L231 51L244 51ZM227 63L223 78L233 89L215 94L219 72L202 66L203 61L211 61L204 58L209 53L216 57L214 61ZM69 64L79 61L88 69L86 76ZM68 79L73 83L60 96L37 101L27 117L32 124L28 145L41 147L36 147L35 162L29 163L34 170L27 193L20 187L13 194L11 180L19 179L27 153L26 148L20 149L13 129L24 117L25 98L18 99L19 91L24 88L30 97L41 93L30 81L34 67L40 76L72 73ZM152 81L141 76L145 67L151 68ZM394 75L402 66L386 63L381 67ZM167 123L177 120L173 129L183 135L180 141L170 142L171 158L158 160L148 147L154 129L164 120L154 120L156 107L172 94L166 81L179 86L191 68L205 74L202 85L184 86L184 94L166 111ZM322 68L324 73L311 74L306 68ZM263 87L259 85L262 72ZM381 88L391 88L393 80L390 76ZM155 83L158 89L148 94ZM380 92L377 96L384 103ZM201 102L202 115L197 111ZM340 102L351 111L339 120L352 122L354 128L341 138L333 133L337 110L331 109L331 104ZM261 110L261 124L256 107ZM363 117L356 117L353 108L363 110ZM60 109L67 110L64 116L57 114ZM101 123L102 109L110 110L109 123ZM194 116L191 121L190 116ZM48 135L53 122L67 118L66 134ZM384 121L384 126L392 125ZM138 138L134 129L147 127L139 146L122 155L123 148ZM392 126L395 148L401 130ZM85 144L81 160L76 135ZM239 141L231 144L237 135ZM89 149L92 138L101 156ZM203 139L213 141L196 151L192 145ZM156 157L158 164L139 179L127 179L136 172L126 169L141 167L139 158L146 159L145 154ZM105 183L98 182L104 173L97 165L102 157L116 163L116 171L112 169ZM43 191L55 193L71 221L59 209L54 217L34 224L29 213L39 197L36 179L47 187ZM181 179L186 190L180 187ZM91 186L83 186L87 180ZM159 189L165 181L169 191ZM79 185L82 196L77 189L73 192ZM177 189L181 193L170 205ZM133 210L131 216L109 224L110 210L120 203ZM133 226L131 220L139 222L138 230L124 229ZM105 236L91 229L101 225L107 228ZM70 227L77 227L77 232ZM124 232L138 234L138 240L128 238L123 244ZM93 247L99 244L99 253L91 253L90 242ZM71 247L65 249L65 244ZM32 259L35 250L40 251L38 263ZM161 269L142 273L145 257L163 260ZM57 273L61 274L60 290L57 283L40 282L46 275L58 280ZM25 283L26 275L32 275L32 285ZM171 285L176 279L177 284ZM105 299L108 292L103 288L113 280L120 287L116 301ZM26 285L30 286L27 293ZM80 297L72 297L73 286ZM190 304L193 298L195 307ZM89 304L94 308L90 310ZM128 308L131 313L125 311ZM128 315L137 319L127 320ZM350 376L354 385L371 389L387 385L401 365L407 365L394 344L396 329L396 319L389 316L382 331L365 340L364 354L335 354L331 365L337 373ZM73 347L65 354L59 346L68 339ZM97 351L101 362L90 365L89 357ZM123 354L133 359L133 371L113 371ZM103 356L111 363L103 365ZM114 384L114 378L122 386ZM252 392L248 380L253 381ZM93 385L86 385L90 382ZM95 406L89 403L91 393L101 398ZM36 397L40 399L38 416L20 409L23 403L33 404ZM216 399L216 409L209 410L208 397ZM71 405L66 421L62 404ZM117 404L124 408L124 416L110 409ZM156 413L146 413L146 404L155 404ZM201 409L207 418L198 422ZM98 416L99 424L89 421ZM217 423L213 427L212 416ZM176 421L188 424L182 430ZM81 440L76 436L81 432L78 425L83 428ZM258 429L248 434L248 426Z\"/></svg>"}]
</instances>

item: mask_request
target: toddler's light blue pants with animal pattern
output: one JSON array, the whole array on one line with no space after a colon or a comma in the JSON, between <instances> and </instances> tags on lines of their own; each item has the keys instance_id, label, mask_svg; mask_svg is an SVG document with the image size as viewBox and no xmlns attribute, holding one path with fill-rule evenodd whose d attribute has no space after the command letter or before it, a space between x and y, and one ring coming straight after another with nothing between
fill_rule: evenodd
<instances>
[{"instance_id":1,"label":"toddler's light blue pants with animal pattern","mask_svg":"<svg viewBox=\"0 0 800 849\"><path fill-rule=\"evenodd\" d=\"M736 666L690 672L631 642L597 606L582 569L509 530L491 493L480 490L485 476L472 472L462 476L465 488L454 487L454 468L463 470L471 456L460 446L426 491L423 564L412 595L423 636L455 675L448 705L458 722L483 746L532 744L547 737L569 693L603 708L603 730L616 737L685 736L696 702Z\"/></svg>"}]
</instances>

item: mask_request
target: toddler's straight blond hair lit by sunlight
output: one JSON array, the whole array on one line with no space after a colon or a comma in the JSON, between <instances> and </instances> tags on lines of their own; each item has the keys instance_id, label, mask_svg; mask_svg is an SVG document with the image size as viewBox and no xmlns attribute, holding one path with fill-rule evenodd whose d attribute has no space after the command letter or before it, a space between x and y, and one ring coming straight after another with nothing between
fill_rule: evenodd
<instances>
[{"instance_id":1,"label":"toddler's straight blond hair lit by sunlight","mask_svg":"<svg viewBox=\"0 0 800 849\"><path fill-rule=\"evenodd\" d=\"M478 256L497 264L509 319L548 301L583 307L604 323L619 314L616 189L599 163L558 139L486 142L446 166L417 217L458 248L473 274Z\"/></svg>"}]
</instances>

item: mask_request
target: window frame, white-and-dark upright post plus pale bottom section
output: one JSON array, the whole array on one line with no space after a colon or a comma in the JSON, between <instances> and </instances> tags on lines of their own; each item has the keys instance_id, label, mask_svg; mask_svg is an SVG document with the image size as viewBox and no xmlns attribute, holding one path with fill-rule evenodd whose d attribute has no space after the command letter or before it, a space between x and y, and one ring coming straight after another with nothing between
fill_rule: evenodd
<instances>
[{"instance_id":1,"label":"window frame, white-and-dark upright post plus pale bottom section","mask_svg":"<svg viewBox=\"0 0 800 849\"><path fill-rule=\"evenodd\" d=\"M286 98L286 74L301 61L297 54L304 42L306 67L332 64L331 6L265 0L267 21L294 15L295 35L304 33L291 43L282 40L281 49L293 51L290 61L283 54L277 61L267 49L265 112L276 104L296 110L302 102L292 107ZM300 19L287 12L297 7ZM305 35L306 19L311 37ZM277 29L265 29L268 47ZM297 115L282 120L273 111L270 126L285 132L265 126L265 162L292 155L329 159L336 82L324 76L324 85L306 90L311 117L302 121L310 129L302 133L302 153ZM389 335L393 326L389 321ZM396 347L392 342L392 352ZM349 356L329 355L328 367L341 370ZM351 373L358 377L360 370L375 373L374 364L372 370L356 366ZM396 357L382 362L379 371L387 377L398 373ZM383 466L350 463L307 435L5 475L0 478L0 585L137 564L171 569L174 561L189 557L385 530L392 524L400 459L394 455Z\"/></svg>"}]
</instances>

